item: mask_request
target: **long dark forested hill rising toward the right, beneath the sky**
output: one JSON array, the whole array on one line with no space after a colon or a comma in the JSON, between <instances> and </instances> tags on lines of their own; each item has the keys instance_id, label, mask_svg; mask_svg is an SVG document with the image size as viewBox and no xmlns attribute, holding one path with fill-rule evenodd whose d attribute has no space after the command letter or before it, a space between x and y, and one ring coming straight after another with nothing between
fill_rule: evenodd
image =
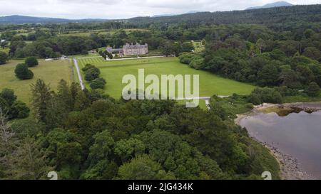
<instances>
[{"instance_id":1,"label":"long dark forested hill rising toward the right, beneath the sky","mask_svg":"<svg viewBox=\"0 0 321 194\"><path fill-rule=\"evenodd\" d=\"M268 9L243 11L199 12L178 16L136 17L128 23L148 25L151 23L229 24L229 23L286 23L321 22L321 4L304 6L281 6Z\"/></svg>"}]
</instances>

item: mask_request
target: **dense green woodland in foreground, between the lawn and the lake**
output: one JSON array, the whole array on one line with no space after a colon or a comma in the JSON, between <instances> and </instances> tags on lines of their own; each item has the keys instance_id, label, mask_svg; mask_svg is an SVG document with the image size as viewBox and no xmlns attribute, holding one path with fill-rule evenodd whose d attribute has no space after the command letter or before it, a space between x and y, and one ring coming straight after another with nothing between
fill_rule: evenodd
<instances>
[{"instance_id":1,"label":"dense green woodland in foreground, between the lawn and the lake","mask_svg":"<svg viewBox=\"0 0 321 194\"><path fill-rule=\"evenodd\" d=\"M0 114L0 178L45 178L50 169L63 179L259 179L267 170L279 178L275 159L216 99L205 111L115 100L63 80L57 92L43 80L31 90L35 117L9 124Z\"/></svg>"}]
</instances>

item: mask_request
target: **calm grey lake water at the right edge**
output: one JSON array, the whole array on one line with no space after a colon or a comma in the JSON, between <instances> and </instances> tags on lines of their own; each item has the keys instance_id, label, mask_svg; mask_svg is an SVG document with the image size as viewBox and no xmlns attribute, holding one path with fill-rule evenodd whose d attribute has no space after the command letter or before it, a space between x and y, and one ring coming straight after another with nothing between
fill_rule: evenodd
<instances>
[{"instance_id":1,"label":"calm grey lake water at the right edge","mask_svg":"<svg viewBox=\"0 0 321 194\"><path fill-rule=\"evenodd\" d=\"M321 112L258 113L242 119L250 136L297 158L302 171L321 179Z\"/></svg>"}]
</instances>

